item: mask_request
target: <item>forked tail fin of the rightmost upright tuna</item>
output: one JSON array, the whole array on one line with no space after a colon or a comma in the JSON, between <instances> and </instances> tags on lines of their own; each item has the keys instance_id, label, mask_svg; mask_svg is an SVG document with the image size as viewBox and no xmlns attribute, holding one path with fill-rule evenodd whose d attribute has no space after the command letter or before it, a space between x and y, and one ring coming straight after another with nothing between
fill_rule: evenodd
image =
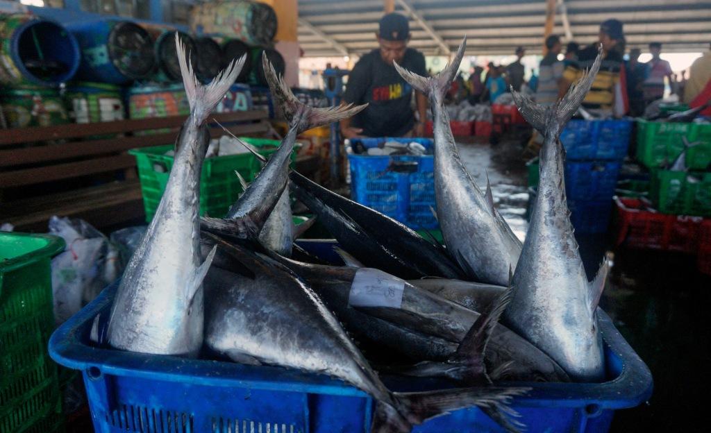
<instances>
[{"instance_id":1,"label":"forked tail fin of the rightmost upright tuna","mask_svg":"<svg viewBox=\"0 0 711 433\"><path fill-rule=\"evenodd\" d=\"M551 131L555 133L555 135L560 134L562 128L565 127L568 120L575 114L585 99L585 95L587 95L590 87L592 87L597 71L600 69L601 62L602 46L598 50L597 58L595 58L592 68L584 73L580 80L571 85L562 100L558 101L552 107L546 108L536 104L530 97L522 95L512 89L511 95L513 95L513 101L516 103L518 111L526 122L535 129L538 129L541 134L547 134L549 132L547 129L550 127L555 127L555 131ZM551 120L553 122L550 122Z\"/></svg>"}]
</instances>

